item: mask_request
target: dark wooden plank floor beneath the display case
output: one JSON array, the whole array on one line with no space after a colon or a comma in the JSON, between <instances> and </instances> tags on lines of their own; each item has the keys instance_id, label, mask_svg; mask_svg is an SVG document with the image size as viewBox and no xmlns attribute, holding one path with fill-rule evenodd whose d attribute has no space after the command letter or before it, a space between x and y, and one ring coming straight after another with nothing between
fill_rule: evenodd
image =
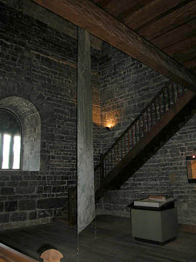
<instances>
[{"instance_id":1,"label":"dark wooden plank floor beneath the display case","mask_svg":"<svg viewBox=\"0 0 196 262\"><path fill-rule=\"evenodd\" d=\"M135 241L129 218L97 216L79 236L79 262L166 262L196 261L196 234L179 231L175 241L164 246ZM42 245L56 247L64 256L61 262L76 262L76 227L63 221L1 231L0 242L39 261Z\"/></svg>"}]
</instances>

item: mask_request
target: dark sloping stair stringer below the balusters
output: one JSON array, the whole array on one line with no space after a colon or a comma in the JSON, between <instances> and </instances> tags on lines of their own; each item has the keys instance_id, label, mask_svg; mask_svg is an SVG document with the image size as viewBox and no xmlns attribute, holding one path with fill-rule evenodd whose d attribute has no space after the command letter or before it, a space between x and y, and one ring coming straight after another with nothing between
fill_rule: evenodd
<instances>
[{"instance_id":1,"label":"dark sloping stair stringer below the balusters","mask_svg":"<svg viewBox=\"0 0 196 262\"><path fill-rule=\"evenodd\" d=\"M107 190L119 189L146 161L148 161L195 114L196 94L188 90L166 112L146 136L129 151L102 181L95 193L95 201Z\"/></svg>"}]
</instances>

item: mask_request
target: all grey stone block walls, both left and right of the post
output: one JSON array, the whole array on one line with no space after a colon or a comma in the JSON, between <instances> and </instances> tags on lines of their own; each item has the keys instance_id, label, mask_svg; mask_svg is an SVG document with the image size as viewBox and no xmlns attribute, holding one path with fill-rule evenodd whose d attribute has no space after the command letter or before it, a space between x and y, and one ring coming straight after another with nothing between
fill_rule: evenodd
<instances>
[{"instance_id":1,"label":"all grey stone block walls, both left and right of the post","mask_svg":"<svg viewBox=\"0 0 196 262\"><path fill-rule=\"evenodd\" d=\"M61 27L66 22L49 13L36 20L19 11L39 14L29 0L12 1L18 10L3 2L9 1L0 2L0 102L16 96L37 108L41 149L40 170L0 171L0 229L47 223L58 215L68 188L76 185L77 157L77 28ZM105 42L101 51L92 40L96 165L168 79ZM195 138L193 117L120 190L107 192L97 213L130 216L133 198L173 191L179 223L195 225L196 187L188 184L185 162L196 153Z\"/></svg>"}]
</instances>

